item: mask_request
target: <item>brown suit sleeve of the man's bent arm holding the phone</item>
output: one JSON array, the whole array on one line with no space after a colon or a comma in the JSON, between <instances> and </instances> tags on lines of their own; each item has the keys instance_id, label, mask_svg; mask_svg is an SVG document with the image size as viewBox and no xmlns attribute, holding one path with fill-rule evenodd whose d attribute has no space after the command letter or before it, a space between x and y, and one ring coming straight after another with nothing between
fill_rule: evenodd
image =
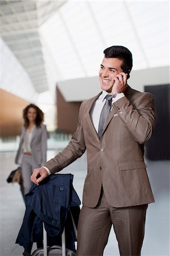
<instances>
[{"instance_id":1,"label":"brown suit sleeve of the man's bent arm holding the phone","mask_svg":"<svg viewBox=\"0 0 170 256\"><path fill-rule=\"evenodd\" d=\"M143 144L150 139L156 119L152 94L142 93L134 106L126 97L114 102L113 105L136 141Z\"/></svg>"}]
</instances>

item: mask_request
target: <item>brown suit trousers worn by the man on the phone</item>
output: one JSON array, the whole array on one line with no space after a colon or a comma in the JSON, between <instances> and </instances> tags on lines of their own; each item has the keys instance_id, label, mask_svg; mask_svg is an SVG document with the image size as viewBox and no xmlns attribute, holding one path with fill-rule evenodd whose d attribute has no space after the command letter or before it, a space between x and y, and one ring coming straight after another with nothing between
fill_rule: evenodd
<instances>
[{"instance_id":1,"label":"brown suit trousers worn by the man on the phone","mask_svg":"<svg viewBox=\"0 0 170 256\"><path fill-rule=\"evenodd\" d=\"M102 190L97 207L81 209L76 256L103 255L112 224L120 255L140 256L147 206L111 207Z\"/></svg>"}]
</instances>

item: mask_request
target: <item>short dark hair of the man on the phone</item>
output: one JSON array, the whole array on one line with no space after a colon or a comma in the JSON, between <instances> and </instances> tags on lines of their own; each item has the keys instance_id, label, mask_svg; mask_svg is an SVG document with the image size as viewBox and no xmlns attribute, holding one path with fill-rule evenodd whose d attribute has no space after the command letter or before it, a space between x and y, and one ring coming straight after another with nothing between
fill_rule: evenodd
<instances>
[{"instance_id":1,"label":"short dark hair of the man on the phone","mask_svg":"<svg viewBox=\"0 0 170 256\"><path fill-rule=\"evenodd\" d=\"M132 53L124 46L111 46L103 51L105 58L118 58L123 60L121 68L123 72L129 73L132 69Z\"/></svg>"}]
</instances>

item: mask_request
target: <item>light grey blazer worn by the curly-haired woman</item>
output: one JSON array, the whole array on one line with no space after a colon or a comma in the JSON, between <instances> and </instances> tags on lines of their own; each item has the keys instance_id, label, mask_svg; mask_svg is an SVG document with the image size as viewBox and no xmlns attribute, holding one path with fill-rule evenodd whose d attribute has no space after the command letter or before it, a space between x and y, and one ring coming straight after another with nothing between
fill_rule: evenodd
<instances>
[{"instance_id":1,"label":"light grey blazer worn by the curly-haired woman","mask_svg":"<svg viewBox=\"0 0 170 256\"><path fill-rule=\"evenodd\" d=\"M15 163L20 164L23 155L23 140L26 133L26 128L22 127L22 134L20 135L19 148L16 153ZM47 129L45 125L34 127L31 139L31 152L38 167L46 162L47 156Z\"/></svg>"}]
</instances>

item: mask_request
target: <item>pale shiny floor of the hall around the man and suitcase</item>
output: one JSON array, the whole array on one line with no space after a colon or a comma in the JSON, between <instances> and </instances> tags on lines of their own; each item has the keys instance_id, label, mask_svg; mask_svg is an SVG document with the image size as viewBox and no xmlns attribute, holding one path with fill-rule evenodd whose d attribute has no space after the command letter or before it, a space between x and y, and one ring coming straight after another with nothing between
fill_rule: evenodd
<instances>
[{"instance_id":1,"label":"pale shiny floor of the hall around the man and suitcase","mask_svg":"<svg viewBox=\"0 0 170 256\"><path fill-rule=\"evenodd\" d=\"M47 158L56 154L48 151ZM23 247L16 245L20 225L24 215L24 203L18 184L8 184L6 177L16 166L14 152L0 153L0 189L1 189L1 254L0 256L21 256ZM148 176L155 196L155 204L147 210L146 234L143 243L143 256L169 256L169 162L148 162ZM74 174L73 185L80 199L86 175L86 155L65 168L63 173ZM34 246L35 247L35 246ZM34 248L35 249L35 248ZM117 240L113 229L104 255L119 255Z\"/></svg>"}]
</instances>

